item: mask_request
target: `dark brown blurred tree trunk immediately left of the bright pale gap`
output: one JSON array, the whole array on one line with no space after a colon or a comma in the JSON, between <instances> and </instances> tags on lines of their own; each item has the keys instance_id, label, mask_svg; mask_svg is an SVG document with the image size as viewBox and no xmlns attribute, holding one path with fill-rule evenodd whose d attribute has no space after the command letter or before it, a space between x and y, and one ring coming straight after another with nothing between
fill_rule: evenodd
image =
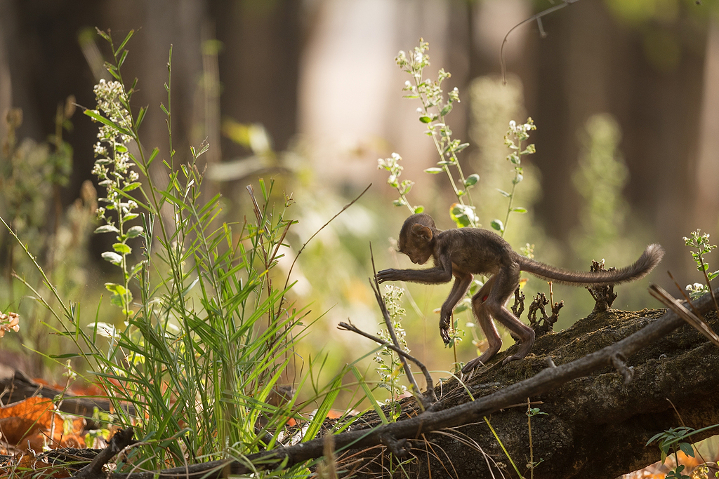
<instances>
[{"instance_id":1,"label":"dark brown blurred tree trunk immediately left of the bright pale gap","mask_svg":"<svg viewBox=\"0 0 719 479\"><path fill-rule=\"evenodd\" d=\"M222 114L261 123L278 151L297 131L300 0L212 0L220 54ZM244 154L224 139L226 157Z\"/></svg>"}]
</instances>

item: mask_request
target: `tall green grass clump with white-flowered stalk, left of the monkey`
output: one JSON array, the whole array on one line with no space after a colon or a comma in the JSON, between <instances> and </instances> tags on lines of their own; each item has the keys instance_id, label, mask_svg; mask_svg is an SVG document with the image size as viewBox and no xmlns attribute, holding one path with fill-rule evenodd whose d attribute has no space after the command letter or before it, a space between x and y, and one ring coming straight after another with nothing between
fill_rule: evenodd
<instances>
[{"instance_id":1,"label":"tall green grass clump with white-flowered stalk, left of the monkey","mask_svg":"<svg viewBox=\"0 0 719 479\"><path fill-rule=\"evenodd\" d=\"M99 124L93 173L104 195L95 232L113 238L102 257L115 266L116 279L105 287L119 320L101 320L98 313L88 327L78 304L65 301L24 245L52 301L26 286L57 317L56 331L81 351L56 358L84 358L89 379L113 402L111 423L135 427L141 442L127 458L133 467L241 458L278 446L282 437L285 444L311 439L340 383L335 378L328 386L316 385L318 366L293 354L307 331L307 311L287 302L291 285L275 278L293 223L286 218L291 201L274 205L272 182L260 180L259 197L248 188L253 220L230 225L221 221L219 195L203 199L197 165L209 145L191 148L182 161L172 147L172 48L168 100L160 106L170 149L160 160L157 148L142 146L139 131L147 109L134 108L137 80L128 87L121 73L132 33L116 46L99 32L111 47L106 68L113 80L96 85L97 106L85 111ZM160 170L166 186L155 181ZM309 371L296 384L297 390L311 389L305 402L284 384L290 363L296 372ZM300 411L308 402L318 411L303 419ZM290 421L302 427L288 439Z\"/></svg>"}]
</instances>

